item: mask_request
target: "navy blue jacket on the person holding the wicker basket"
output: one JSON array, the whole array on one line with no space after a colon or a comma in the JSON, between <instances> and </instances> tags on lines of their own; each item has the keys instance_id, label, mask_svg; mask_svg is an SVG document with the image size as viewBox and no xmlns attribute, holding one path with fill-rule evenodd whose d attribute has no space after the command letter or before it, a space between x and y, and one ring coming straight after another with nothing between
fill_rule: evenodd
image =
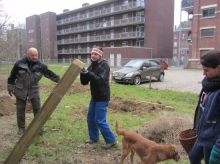
<instances>
[{"instance_id":1,"label":"navy blue jacket on the person holding the wicker basket","mask_svg":"<svg viewBox=\"0 0 220 164\"><path fill-rule=\"evenodd\" d=\"M196 108L194 128L198 133L198 144L212 148L216 145L220 148L220 90L208 93L207 98ZM203 113L200 112L203 110Z\"/></svg>"}]
</instances>

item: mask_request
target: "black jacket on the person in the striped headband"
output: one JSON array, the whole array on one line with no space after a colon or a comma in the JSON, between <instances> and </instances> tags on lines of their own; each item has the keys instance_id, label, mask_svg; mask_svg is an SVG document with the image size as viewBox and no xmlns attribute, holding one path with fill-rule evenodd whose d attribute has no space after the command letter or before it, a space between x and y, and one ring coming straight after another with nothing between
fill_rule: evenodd
<instances>
[{"instance_id":1,"label":"black jacket on the person in the striped headband","mask_svg":"<svg viewBox=\"0 0 220 164\"><path fill-rule=\"evenodd\" d=\"M110 87L109 74L110 67L106 60L100 59L92 62L88 67L88 73L80 74L82 85L87 85L90 82L91 95L94 101L109 101Z\"/></svg>"}]
</instances>

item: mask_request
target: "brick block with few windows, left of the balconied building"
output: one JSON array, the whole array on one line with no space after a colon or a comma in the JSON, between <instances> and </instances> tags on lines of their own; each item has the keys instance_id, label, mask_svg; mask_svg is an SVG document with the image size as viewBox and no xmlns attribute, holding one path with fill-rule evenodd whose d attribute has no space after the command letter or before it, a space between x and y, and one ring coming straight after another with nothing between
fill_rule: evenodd
<instances>
[{"instance_id":1,"label":"brick block with few windows, left of the balconied building","mask_svg":"<svg viewBox=\"0 0 220 164\"><path fill-rule=\"evenodd\" d=\"M56 13L46 12L26 18L27 48L38 49L39 59L57 59Z\"/></svg>"}]
</instances>

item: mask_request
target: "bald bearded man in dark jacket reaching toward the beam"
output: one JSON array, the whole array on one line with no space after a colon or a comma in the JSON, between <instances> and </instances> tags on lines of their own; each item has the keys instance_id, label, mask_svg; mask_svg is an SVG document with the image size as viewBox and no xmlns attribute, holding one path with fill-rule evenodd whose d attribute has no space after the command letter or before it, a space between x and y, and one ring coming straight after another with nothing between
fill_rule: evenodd
<instances>
[{"instance_id":1,"label":"bald bearded man in dark jacket reaching toward the beam","mask_svg":"<svg viewBox=\"0 0 220 164\"><path fill-rule=\"evenodd\" d=\"M42 76L58 83L60 77L49 70L47 66L38 60L36 48L30 48L27 56L18 60L11 70L8 78L8 93L16 97L18 135L25 130L25 107L27 98L31 101L34 116L41 108L39 80ZM42 132L46 130L42 128Z\"/></svg>"}]
</instances>

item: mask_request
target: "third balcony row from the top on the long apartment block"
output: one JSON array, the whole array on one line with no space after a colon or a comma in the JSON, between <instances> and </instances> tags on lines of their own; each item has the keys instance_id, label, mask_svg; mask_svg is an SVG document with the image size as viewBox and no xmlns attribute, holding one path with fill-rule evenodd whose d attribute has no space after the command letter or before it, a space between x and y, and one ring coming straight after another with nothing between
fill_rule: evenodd
<instances>
[{"instance_id":1,"label":"third balcony row from the top on the long apartment block","mask_svg":"<svg viewBox=\"0 0 220 164\"><path fill-rule=\"evenodd\" d=\"M97 42L97 41L111 41L111 40L124 40L124 39L139 39L144 38L144 32L126 32L126 33L117 33L117 34L109 34L109 35L98 35L98 36L87 36L82 38L75 39L62 39L58 40L58 45L65 44L79 44L79 43L88 43L88 42Z\"/></svg>"}]
</instances>

